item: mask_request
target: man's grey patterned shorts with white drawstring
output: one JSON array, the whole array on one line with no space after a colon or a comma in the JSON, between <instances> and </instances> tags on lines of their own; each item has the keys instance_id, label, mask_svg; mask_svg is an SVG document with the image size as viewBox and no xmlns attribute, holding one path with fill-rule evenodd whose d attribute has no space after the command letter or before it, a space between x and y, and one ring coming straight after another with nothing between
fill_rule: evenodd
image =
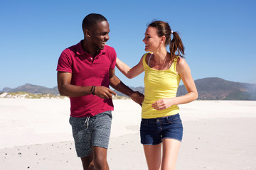
<instances>
[{"instance_id":1,"label":"man's grey patterned shorts with white drawstring","mask_svg":"<svg viewBox=\"0 0 256 170\"><path fill-rule=\"evenodd\" d=\"M89 156L92 153L92 147L107 149L110 141L111 123L111 111L99 113L92 117L70 117L78 157Z\"/></svg>"}]
</instances>

